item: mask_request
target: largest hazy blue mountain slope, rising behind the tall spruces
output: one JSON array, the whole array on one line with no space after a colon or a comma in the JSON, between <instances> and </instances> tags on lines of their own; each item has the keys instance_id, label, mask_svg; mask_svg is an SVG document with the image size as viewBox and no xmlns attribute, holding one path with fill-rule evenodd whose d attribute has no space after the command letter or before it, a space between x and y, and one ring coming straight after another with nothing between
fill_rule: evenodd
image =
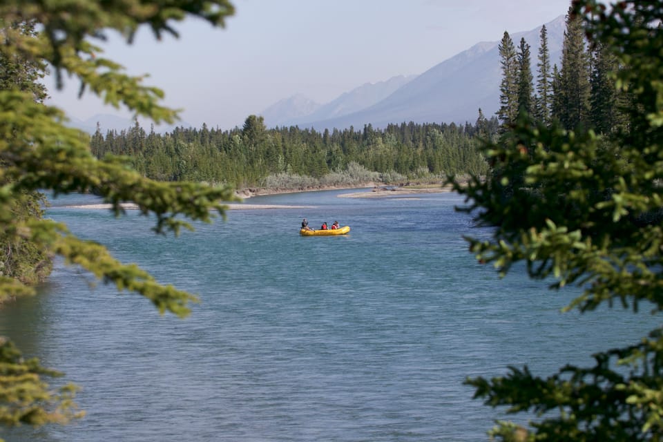
<instances>
[{"instance_id":1,"label":"largest hazy blue mountain slope, rising behind the tall spruces","mask_svg":"<svg viewBox=\"0 0 663 442\"><path fill-rule=\"evenodd\" d=\"M554 64L560 64L565 28L564 15L546 23L551 68ZM540 32L541 26L527 32L510 33L516 47L521 38L530 45L530 63L535 81ZM499 37L501 39L501 35ZM483 115L491 117L499 108L501 68L498 46L499 41L476 44L410 79L390 95L365 108L345 115L339 113L323 117L322 109L341 99L341 95L334 102L320 106L311 115L291 120L290 124L316 130L349 126L361 128L369 123L376 128L383 128L390 123L410 121L464 124L476 121L479 108ZM320 117L316 117L318 115Z\"/></svg>"}]
</instances>

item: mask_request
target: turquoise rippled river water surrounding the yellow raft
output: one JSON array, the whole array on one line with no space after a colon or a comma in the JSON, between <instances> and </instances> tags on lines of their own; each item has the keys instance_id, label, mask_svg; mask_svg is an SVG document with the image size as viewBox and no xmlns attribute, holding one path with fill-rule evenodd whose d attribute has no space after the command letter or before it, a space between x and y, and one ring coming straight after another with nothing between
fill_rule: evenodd
<instances>
[{"instance_id":1,"label":"turquoise rippled river water surrounding the yellow raft","mask_svg":"<svg viewBox=\"0 0 663 442\"><path fill-rule=\"evenodd\" d=\"M620 307L561 314L574 289L498 278L468 253L462 236L489 231L454 211L463 203L455 193L337 198L348 192L251 198L298 207L229 211L179 238L154 236L132 211L115 219L68 207L96 202L90 195L54 200L48 217L200 303L184 320L160 316L144 298L90 287L84 271L57 262L38 296L0 310L0 334L65 372L87 414L0 437L486 441L503 410L473 400L466 376L588 365L593 352L635 343L655 325L647 311ZM303 238L303 217L352 231Z\"/></svg>"}]
</instances>

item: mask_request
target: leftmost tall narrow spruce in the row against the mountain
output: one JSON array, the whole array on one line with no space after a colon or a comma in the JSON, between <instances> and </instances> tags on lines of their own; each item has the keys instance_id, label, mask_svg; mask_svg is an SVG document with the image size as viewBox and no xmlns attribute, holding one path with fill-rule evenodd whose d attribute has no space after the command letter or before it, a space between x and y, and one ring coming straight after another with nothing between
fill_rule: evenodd
<instances>
[{"instance_id":1,"label":"leftmost tall narrow spruce in the row against the mountain","mask_svg":"<svg viewBox=\"0 0 663 442\"><path fill-rule=\"evenodd\" d=\"M499 111L497 117L504 128L516 121L518 116L518 57L508 32L499 42L499 64L502 80L499 86Z\"/></svg>"}]
</instances>

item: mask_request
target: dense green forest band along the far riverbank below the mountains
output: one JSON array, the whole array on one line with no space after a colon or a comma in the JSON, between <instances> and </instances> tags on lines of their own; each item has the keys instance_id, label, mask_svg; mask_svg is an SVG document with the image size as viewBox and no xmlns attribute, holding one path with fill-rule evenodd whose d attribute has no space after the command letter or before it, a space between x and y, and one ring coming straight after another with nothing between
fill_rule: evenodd
<instances>
[{"instance_id":1,"label":"dense green forest band along the far riverbank below the mountains","mask_svg":"<svg viewBox=\"0 0 663 442\"><path fill-rule=\"evenodd\" d=\"M483 119L485 120L485 119ZM480 140L497 133L496 118L477 124L370 124L339 131L296 126L268 129L250 115L231 131L176 128L164 135L135 124L101 128L90 146L97 157L127 155L137 171L157 180L189 180L247 187L306 188L356 182L439 181L446 174L483 175Z\"/></svg>"}]
</instances>

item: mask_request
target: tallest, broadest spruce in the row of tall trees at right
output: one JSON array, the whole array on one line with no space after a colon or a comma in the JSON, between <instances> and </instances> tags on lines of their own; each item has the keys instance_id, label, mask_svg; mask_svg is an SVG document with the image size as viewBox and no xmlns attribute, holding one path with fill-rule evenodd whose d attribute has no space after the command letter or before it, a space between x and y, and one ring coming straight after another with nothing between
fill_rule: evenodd
<instances>
[{"instance_id":1,"label":"tallest, broadest spruce in the row of tall trees at right","mask_svg":"<svg viewBox=\"0 0 663 442\"><path fill-rule=\"evenodd\" d=\"M559 70L560 87L555 90L555 99L560 104L557 117L565 128L587 126L590 122L589 61L582 18L569 10Z\"/></svg>"}]
</instances>

